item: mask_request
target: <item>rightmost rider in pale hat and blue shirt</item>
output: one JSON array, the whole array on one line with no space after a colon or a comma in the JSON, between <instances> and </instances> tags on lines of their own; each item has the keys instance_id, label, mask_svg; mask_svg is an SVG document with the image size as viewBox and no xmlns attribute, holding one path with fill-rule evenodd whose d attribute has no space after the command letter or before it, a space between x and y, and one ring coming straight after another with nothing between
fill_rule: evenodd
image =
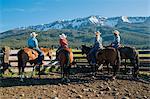
<instances>
[{"instance_id":1,"label":"rightmost rider in pale hat and blue shirt","mask_svg":"<svg viewBox=\"0 0 150 99\"><path fill-rule=\"evenodd\" d=\"M113 48L118 48L120 47L120 32L118 30L114 30L114 41L111 43L111 46Z\"/></svg>"}]
</instances>

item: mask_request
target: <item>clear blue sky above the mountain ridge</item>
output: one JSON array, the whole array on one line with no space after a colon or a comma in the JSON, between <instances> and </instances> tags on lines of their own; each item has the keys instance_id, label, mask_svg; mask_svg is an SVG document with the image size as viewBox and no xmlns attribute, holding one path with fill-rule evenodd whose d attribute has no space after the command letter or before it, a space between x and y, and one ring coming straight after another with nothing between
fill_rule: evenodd
<instances>
[{"instance_id":1,"label":"clear blue sky above the mountain ridge","mask_svg":"<svg viewBox=\"0 0 150 99\"><path fill-rule=\"evenodd\" d=\"M150 16L150 0L0 0L0 32L90 15Z\"/></svg>"}]
</instances>

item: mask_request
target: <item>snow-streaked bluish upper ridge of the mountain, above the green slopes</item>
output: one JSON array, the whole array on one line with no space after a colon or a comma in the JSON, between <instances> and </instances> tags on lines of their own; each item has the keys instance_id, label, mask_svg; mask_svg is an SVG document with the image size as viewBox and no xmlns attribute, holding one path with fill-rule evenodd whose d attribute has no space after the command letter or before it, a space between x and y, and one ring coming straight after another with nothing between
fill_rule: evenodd
<instances>
[{"instance_id":1,"label":"snow-streaked bluish upper ridge of the mountain, above the green slopes","mask_svg":"<svg viewBox=\"0 0 150 99\"><path fill-rule=\"evenodd\" d=\"M120 16L120 17L101 17L101 16L89 16L85 18L77 18L73 20L60 20L55 21L48 24L41 24L36 26L28 26L28 27L21 27L18 29L34 29L40 31L46 31L48 29L78 29L84 26L90 25L97 25L97 26L109 26L115 27L120 23L142 23L147 21L149 17L127 17L127 16ZM149 21L148 21L149 22Z\"/></svg>"}]
</instances>

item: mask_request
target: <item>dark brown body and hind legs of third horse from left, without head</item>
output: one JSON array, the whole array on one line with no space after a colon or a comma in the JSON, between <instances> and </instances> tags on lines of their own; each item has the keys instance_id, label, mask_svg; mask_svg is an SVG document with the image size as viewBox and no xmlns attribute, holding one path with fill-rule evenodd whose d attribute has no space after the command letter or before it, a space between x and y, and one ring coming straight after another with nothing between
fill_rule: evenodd
<instances>
[{"instance_id":1,"label":"dark brown body and hind legs of third horse from left, without head","mask_svg":"<svg viewBox=\"0 0 150 99\"><path fill-rule=\"evenodd\" d=\"M119 70L121 64L120 52L112 47L100 49L96 53L96 61L98 65L106 64L108 73L109 73L109 65L113 67L113 76L115 79L116 73Z\"/></svg>"}]
</instances>

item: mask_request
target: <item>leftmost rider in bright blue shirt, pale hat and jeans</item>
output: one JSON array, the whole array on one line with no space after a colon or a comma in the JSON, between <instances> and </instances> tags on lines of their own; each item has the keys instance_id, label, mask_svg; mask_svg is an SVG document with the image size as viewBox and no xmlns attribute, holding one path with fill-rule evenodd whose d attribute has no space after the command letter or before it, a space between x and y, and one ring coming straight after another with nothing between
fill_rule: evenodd
<instances>
[{"instance_id":1,"label":"leftmost rider in bright blue shirt, pale hat and jeans","mask_svg":"<svg viewBox=\"0 0 150 99\"><path fill-rule=\"evenodd\" d=\"M36 34L35 32L32 32L30 34L30 38L28 39L28 47L31 49L34 49L38 52L38 65L42 64L42 60L44 58L44 54L43 52L40 50L39 46L38 46L38 40L36 39L36 36L38 34Z\"/></svg>"}]
</instances>

